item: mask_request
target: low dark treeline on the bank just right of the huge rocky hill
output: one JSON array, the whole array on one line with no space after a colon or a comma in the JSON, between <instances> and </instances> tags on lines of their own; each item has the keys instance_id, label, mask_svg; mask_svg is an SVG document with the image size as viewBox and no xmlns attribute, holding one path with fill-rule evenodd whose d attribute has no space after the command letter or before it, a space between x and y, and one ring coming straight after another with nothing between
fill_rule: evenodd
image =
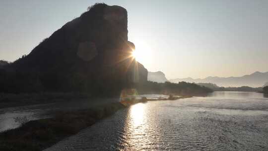
<instances>
[{"instance_id":1,"label":"low dark treeline on the bank just right of the huge rocky hill","mask_svg":"<svg viewBox=\"0 0 268 151\"><path fill-rule=\"evenodd\" d=\"M188 82L179 82L179 83L157 83L152 81L147 81L144 83L139 83L135 85L139 94L165 94L165 95L190 95L190 96L204 96L208 92L212 92L213 90L200 86L195 83Z\"/></svg>"}]
</instances>

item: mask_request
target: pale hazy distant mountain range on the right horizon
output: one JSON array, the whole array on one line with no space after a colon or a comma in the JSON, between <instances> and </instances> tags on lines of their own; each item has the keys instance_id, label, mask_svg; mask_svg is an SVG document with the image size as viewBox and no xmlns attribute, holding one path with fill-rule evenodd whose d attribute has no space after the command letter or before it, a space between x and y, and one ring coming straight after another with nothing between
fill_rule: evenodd
<instances>
[{"instance_id":1,"label":"pale hazy distant mountain range on the right horizon","mask_svg":"<svg viewBox=\"0 0 268 151\"><path fill-rule=\"evenodd\" d=\"M255 72L251 75L244 75L239 77L217 77L217 76L208 76L206 78L197 78L193 79L191 77L188 78L175 78L170 79L170 82L177 83L179 81L186 82L195 82L195 83L215 83L219 86L224 87L240 87L240 86L250 86L250 87L261 87L265 82L268 81L268 72L261 73Z\"/></svg>"}]
</instances>

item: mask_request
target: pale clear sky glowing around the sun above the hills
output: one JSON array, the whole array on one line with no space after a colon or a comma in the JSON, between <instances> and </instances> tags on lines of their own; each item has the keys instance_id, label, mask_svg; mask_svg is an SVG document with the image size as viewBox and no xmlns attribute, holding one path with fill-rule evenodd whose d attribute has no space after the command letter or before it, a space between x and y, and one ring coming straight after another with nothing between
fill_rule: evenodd
<instances>
[{"instance_id":1,"label":"pale clear sky glowing around the sun above the hills","mask_svg":"<svg viewBox=\"0 0 268 151\"><path fill-rule=\"evenodd\" d=\"M0 60L15 61L96 2L128 10L136 60L170 78L268 72L268 0L1 0Z\"/></svg>"}]
</instances>

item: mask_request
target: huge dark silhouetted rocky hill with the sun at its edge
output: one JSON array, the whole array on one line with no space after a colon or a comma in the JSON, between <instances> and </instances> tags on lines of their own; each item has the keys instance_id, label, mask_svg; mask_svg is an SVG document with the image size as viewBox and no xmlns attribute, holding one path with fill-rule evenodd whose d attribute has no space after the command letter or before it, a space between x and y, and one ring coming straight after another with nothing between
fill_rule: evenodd
<instances>
[{"instance_id":1,"label":"huge dark silhouetted rocky hill with the sun at its edge","mask_svg":"<svg viewBox=\"0 0 268 151\"><path fill-rule=\"evenodd\" d=\"M128 41L127 10L98 3L6 71L7 75L29 74L30 83L38 83L40 90L116 94L147 80L147 70L130 57L133 49L134 44Z\"/></svg>"}]
</instances>

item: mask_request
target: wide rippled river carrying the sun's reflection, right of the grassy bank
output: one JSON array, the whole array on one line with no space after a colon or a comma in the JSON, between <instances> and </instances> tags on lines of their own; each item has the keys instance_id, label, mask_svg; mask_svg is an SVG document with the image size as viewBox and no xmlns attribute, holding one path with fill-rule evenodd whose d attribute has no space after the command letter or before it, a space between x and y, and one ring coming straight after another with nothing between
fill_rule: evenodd
<instances>
[{"instance_id":1,"label":"wide rippled river carrying the sun's reflection, right of the grassy bank","mask_svg":"<svg viewBox=\"0 0 268 151\"><path fill-rule=\"evenodd\" d=\"M46 151L268 151L268 98L213 92L138 103Z\"/></svg>"}]
</instances>

